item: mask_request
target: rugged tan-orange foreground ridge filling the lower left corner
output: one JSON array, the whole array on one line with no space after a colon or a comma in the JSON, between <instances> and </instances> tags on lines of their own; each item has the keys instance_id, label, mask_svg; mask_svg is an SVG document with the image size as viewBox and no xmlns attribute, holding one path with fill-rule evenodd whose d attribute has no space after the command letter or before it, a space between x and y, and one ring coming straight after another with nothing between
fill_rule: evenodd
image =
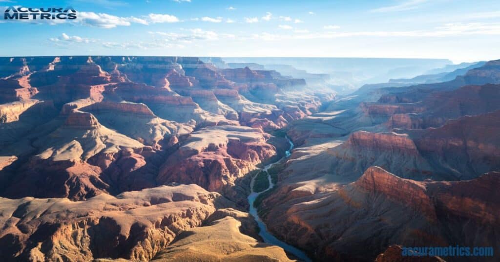
<instances>
[{"instance_id":1,"label":"rugged tan-orange foreground ridge filling the lower left corner","mask_svg":"<svg viewBox=\"0 0 500 262\"><path fill-rule=\"evenodd\" d=\"M6 260L149 260L180 232L231 203L196 185L64 198L0 198L0 254Z\"/></svg>"}]
</instances>

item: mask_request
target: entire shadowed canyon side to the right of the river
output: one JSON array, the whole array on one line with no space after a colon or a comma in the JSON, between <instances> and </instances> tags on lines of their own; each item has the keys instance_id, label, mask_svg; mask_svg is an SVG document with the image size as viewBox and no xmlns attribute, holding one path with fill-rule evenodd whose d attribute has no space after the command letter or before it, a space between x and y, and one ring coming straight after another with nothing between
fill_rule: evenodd
<instances>
[{"instance_id":1,"label":"entire shadowed canyon side to the right of the river","mask_svg":"<svg viewBox=\"0 0 500 262\"><path fill-rule=\"evenodd\" d=\"M498 75L490 61L448 82L360 89L288 125L299 147L260 203L269 231L318 260L394 244L497 250Z\"/></svg>"}]
</instances>

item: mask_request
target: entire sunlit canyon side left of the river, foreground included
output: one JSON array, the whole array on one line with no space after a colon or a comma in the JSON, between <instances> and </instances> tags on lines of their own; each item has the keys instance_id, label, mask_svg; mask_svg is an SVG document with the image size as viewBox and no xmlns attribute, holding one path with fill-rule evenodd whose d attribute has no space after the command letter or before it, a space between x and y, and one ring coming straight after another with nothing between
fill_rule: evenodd
<instances>
[{"instance_id":1,"label":"entire sunlit canyon side left of the river, foreground included","mask_svg":"<svg viewBox=\"0 0 500 262\"><path fill-rule=\"evenodd\" d=\"M334 94L244 72L185 57L1 58L0 256L289 260L259 242L248 173L284 155L271 132ZM182 251L215 235L220 248Z\"/></svg>"}]
</instances>

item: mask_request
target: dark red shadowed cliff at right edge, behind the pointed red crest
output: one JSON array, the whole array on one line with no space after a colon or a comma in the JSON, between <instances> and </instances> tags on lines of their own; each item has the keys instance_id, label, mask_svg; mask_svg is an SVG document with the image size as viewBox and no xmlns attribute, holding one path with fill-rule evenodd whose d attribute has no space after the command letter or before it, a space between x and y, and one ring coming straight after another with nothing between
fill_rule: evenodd
<instances>
[{"instance_id":1,"label":"dark red shadowed cliff at right edge, behind the pointed red crest","mask_svg":"<svg viewBox=\"0 0 500 262\"><path fill-rule=\"evenodd\" d=\"M415 132L419 151L436 165L447 165L448 173L470 179L498 170L500 160L500 111L466 116L425 132ZM454 159L450 158L453 156Z\"/></svg>"}]
</instances>

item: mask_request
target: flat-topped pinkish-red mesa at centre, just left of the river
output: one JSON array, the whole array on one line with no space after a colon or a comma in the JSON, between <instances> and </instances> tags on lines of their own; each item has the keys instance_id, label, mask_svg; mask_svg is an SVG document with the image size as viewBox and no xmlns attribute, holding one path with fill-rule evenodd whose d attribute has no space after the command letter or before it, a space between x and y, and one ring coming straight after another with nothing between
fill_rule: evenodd
<instances>
[{"instance_id":1,"label":"flat-topped pinkish-red mesa at centre, just left of the river","mask_svg":"<svg viewBox=\"0 0 500 262\"><path fill-rule=\"evenodd\" d=\"M207 127L193 132L160 168L158 182L196 183L221 192L256 165L276 154L259 129Z\"/></svg>"}]
</instances>

